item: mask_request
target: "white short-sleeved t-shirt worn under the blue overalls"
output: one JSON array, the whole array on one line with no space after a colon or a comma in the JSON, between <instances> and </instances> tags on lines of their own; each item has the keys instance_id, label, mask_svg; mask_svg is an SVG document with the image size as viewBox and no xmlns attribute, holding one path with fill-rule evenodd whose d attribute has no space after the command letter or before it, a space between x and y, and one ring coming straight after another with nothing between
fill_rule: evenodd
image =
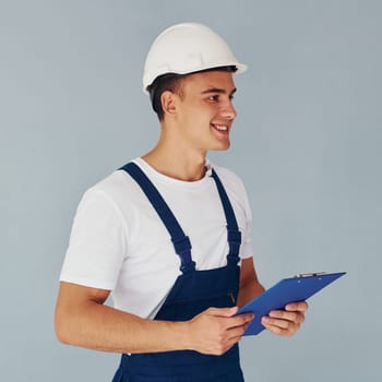
<instances>
[{"instance_id":1,"label":"white short-sleeved t-shirt worn under the blue overalls","mask_svg":"<svg viewBox=\"0 0 382 382\"><path fill-rule=\"evenodd\" d=\"M172 211L192 244L196 270L227 264L226 218L206 162L205 177L181 181L134 160ZM214 166L242 235L240 258L252 256L251 211L244 187ZM76 211L60 279L111 290L117 309L153 319L180 275L170 236L140 186L117 170L88 189Z\"/></svg>"}]
</instances>

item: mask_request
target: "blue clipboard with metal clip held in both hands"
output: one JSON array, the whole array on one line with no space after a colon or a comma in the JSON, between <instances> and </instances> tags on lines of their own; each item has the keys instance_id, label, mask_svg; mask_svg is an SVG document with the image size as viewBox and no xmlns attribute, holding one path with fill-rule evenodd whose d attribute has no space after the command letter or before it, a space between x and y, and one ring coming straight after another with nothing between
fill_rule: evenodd
<instances>
[{"instance_id":1,"label":"blue clipboard with metal clip held in both hands","mask_svg":"<svg viewBox=\"0 0 382 382\"><path fill-rule=\"evenodd\" d=\"M312 273L283 278L239 309L237 314L254 313L254 319L243 335L255 335L262 332L265 327L261 324L261 319L271 310L284 309L290 302L305 301L345 274L346 272Z\"/></svg>"}]
</instances>

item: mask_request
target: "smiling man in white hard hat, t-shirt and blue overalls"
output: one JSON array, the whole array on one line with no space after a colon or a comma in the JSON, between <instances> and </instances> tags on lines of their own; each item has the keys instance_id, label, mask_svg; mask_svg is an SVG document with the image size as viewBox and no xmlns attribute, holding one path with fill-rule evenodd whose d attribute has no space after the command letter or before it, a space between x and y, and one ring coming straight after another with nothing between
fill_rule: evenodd
<instances>
[{"instance_id":1,"label":"smiling man in white hard hat, t-shirt and blue overalls","mask_svg":"<svg viewBox=\"0 0 382 382\"><path fill-rule=\"evenodd\" d=\"M201 24L153 43L143 75L160 121L157 145L91 188L61 273L56 331L67 344L121 353L114 381L243 381L238 307L264 289L241 181L212 166L236 118L227 44ZM238 265L240 264L240 265ZM112 291L115 308L104 305ZM263 318L294 334L306 302Z\"/></svg>"}]
</instances>

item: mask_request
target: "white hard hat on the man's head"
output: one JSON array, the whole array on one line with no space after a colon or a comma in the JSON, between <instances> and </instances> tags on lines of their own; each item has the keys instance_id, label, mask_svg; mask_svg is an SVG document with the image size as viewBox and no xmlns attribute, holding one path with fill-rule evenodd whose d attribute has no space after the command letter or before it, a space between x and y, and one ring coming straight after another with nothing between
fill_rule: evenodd
<instances>
[{"instance_id":1,"label":"white hard hat on the man's head","mask_svg":"<svg viewBox=\"0 0 382 382\"><path fill-rule=\"evenodd\" d=\"M218 67L247 65L238 62L227 43L205 25L182 23L165 29L151 46L143 73L143 91L166 73L188 74Z\"/></svg>"}]
</instances>

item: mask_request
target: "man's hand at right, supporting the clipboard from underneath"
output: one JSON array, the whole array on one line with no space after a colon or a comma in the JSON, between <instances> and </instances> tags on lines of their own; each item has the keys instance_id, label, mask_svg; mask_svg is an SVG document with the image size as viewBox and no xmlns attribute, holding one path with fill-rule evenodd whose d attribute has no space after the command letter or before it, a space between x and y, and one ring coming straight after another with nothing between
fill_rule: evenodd
<instances>
[{"instance_id":1,"label":"man's hand at right, supporting the clipboard from underneath","mask_svg":"<svg viewBox=\"0 0 382 382\"><path fill-rule=\"evenodd\" d=\"M285 310L272 310L261 319L261 323L272 333L280 336L291 336L305 321L308 303L305 301L288 303Z\"/></svg>"}]
</instances>

